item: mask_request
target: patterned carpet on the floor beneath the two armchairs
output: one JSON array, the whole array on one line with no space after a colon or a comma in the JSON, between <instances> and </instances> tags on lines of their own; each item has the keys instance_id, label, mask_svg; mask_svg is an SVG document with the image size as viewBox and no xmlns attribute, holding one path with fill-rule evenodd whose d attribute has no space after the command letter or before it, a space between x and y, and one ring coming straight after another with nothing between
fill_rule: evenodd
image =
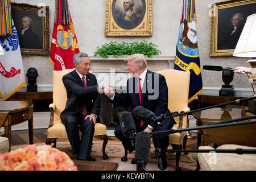
<instances>
[{"instance_id":1,"label":"patterned carpet on the floor beneath the two armchairs","mask_svg":"<svg viewBox=\"0 0 256 182\"><path fill-rule=\"evenodd\" d=\"M134 158L135 152L128 154L127 162L121 162L121 157L124 154L122 143L118 140L114 140L115 137L109 137L110 140L106 146L106 154L108 154L108 160L102 160L102 140L94 137L92 153L91 156L96 158L99 162L115 162L118 163L118 171L136 171L136 165L131 164L131 160ZM44 142L35 143L36 145L44 144ZM15 146L11 146L11 150L20 147L26 147L27 144L19 144ZM72 148L68 141L57 142L57 146L61 151L66 152L69 156L72 156ZM170 147L171 148L171 147ZM159 171L158 168L158 159L155 157L155 148L151 144L150 149L150 160L147 163L146 170L147 171ZM174 171L175 170L175 154L170 154L167 152L167 168L166 171ZM196 168L196 154L191 153L188 155L181 154L180 157L180 168L184 171L187 170L195 170Z\"/></svg>"}]
</instances>

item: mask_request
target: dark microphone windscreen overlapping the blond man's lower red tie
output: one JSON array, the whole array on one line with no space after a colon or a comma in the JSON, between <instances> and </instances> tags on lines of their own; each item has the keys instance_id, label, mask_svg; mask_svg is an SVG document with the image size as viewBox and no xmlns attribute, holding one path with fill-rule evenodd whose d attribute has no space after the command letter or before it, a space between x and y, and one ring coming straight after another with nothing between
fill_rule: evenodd
<instances>
[{"instance_id":1,"label":"dark microphone windscreen overlapping the blond man's lower red tie","mask_svg":"<svg viewBox=\"0 0 256 182\"><path fill-rule=\"evenodd\" d=\"M150 123L150 119L155 116L151 110L146 109L143 106L137 106L133 110L133 115L135 118L142 120L147 125Z\"/></svg>"}]
</instances>

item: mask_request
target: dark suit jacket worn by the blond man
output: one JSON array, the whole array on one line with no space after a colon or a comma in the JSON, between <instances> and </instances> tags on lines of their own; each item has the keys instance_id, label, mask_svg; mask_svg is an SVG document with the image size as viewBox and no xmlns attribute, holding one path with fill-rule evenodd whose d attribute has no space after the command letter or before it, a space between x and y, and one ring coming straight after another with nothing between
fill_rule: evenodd
<instances>
[{"instance_id":1,"label":"dark suit jacket worn by the blond man","mask_svg":"<svg viewBox=\"0 0 256 182\"><path fill-rule=\"evenodd\" d=\"M113 102L125 107L132 104L132 109L134 109L140 105L137 78L129 78L129 80L127 80L126 89L127 93L122 96L115 94ZM168 87L166 84L166 78L164 78L163 75L147 71L142 88L141 102L143 107L151 110L155 115L170 113L170 110L168 109ZM135 118L134 121L137 125L140 123L140 121ZM150 123L149 125L155 127L153 123Z\"/></svg>"}]
</instances>

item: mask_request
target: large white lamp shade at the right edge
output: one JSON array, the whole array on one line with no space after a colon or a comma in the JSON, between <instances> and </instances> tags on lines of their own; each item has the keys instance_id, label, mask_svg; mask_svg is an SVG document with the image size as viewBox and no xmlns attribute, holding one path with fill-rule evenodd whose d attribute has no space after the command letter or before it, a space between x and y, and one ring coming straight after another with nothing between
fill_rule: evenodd
<instances>
[{"instance_id":1,"label":"large white lamp shade at the right edge","mask_svg":"<svg viewBox=\"0 0 256 182\"><path fill-rule=\"evenodd\" d=\"M247 17L233 56L256 57L256 14Z\"/></svg>"}]
</instances>

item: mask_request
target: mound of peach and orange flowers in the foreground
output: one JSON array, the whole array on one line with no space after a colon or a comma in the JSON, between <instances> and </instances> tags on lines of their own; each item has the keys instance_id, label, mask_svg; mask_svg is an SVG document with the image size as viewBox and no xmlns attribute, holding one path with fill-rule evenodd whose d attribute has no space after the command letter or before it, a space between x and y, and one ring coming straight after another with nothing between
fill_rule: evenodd
<instances>
[{"instance_id":1,"label":"mound of peach and orange flowers in the foreground","mask_svg":"<svg viewBox=\"0 0 256 182\"><path fill-rule=\"evenodd\" d=\"M65 152L31 144L0 154L0 171L77 171Z\"/></svg>"}]
</instances>

